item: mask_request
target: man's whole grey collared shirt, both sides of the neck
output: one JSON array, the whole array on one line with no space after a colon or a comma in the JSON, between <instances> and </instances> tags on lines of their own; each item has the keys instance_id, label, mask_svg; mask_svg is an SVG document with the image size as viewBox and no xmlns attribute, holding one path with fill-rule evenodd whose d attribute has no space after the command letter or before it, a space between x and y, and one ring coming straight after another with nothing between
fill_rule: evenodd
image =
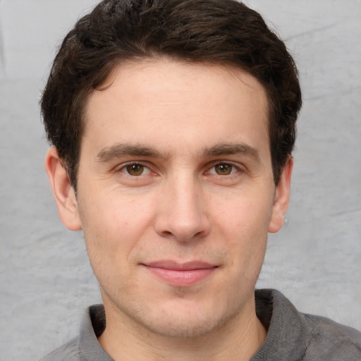
<instances>
[{"instance_id":1,"label":"man's whole grey collared shirt, both sides of the neck","mask_svg":"<svg viewBox=\"0 0 361 361\"><path fill-rule=\"evenodd\" d=\"M256 312L267 338L250 361L361 360L361 333L324 317L298 312L277 290L256 290ZM77 338L40 361L113 361L97 341L105 329L103 305L88 307Z\"/></svg>"}]
</instances>

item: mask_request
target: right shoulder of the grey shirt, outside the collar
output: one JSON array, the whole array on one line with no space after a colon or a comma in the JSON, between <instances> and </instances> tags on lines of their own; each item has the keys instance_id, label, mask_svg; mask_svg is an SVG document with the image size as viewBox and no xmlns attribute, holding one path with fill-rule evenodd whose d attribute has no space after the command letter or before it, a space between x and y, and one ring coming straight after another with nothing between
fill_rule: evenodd
<instances>
[{"instance_id":1,"label":"right shoulder of the grey shirt, outside the collar","mask_svg":"<svg viewBox=\"0 0 361 361\"><path fill-rule=\"evenodd\" d=\"M310 343L305 360L361 360L361 332L325 317L300 313Z\"/></svg>"}]
</instances>

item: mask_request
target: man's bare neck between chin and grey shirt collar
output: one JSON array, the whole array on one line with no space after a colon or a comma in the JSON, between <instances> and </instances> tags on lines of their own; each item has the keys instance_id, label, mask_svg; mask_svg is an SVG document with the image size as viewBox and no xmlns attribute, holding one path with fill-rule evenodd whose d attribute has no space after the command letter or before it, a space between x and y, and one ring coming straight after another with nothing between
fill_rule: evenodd
<instances>
[{"instance_id":1,"label":"man's bare neck between chin and grey shirt collar","mask_svg":"<svg viewBox=\"0 0 361 361\"><path fill-rule=\"evenodd\" d=\"M248 361L267 335L257 319L254 300L223 326L197 338L154 334L123 314L114 314L105 302L104 307L106 329L98 341L115 361Z\"/></svg>"}]
</instances>

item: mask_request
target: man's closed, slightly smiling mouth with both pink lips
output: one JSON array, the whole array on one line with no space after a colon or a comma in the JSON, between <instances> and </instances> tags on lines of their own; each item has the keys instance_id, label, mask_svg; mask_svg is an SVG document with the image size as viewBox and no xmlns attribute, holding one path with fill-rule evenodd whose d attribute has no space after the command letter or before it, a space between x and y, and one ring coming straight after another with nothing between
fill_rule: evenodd
<instances>
[{"instance_id":1,"label":"man's closed, slightly smiling mouth with both pink lips","mask_svg":"<svg viewBox=\"0 0 361 361\"><path fill-rule=\"evenodd\" d=\"M157 279L171 286L193 286L211 276L218 266L207 262L178 263L173 261L157 261L142 264Z\"/></svg>"}]
</instances>

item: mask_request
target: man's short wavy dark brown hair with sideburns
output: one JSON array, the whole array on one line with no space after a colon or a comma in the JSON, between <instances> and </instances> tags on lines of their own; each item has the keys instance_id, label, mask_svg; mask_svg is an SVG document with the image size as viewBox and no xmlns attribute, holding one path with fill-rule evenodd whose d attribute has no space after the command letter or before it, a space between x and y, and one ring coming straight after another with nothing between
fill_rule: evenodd
<instances>
[{"instance_id":1,"label":"man's short wavy dark brown hair with sideburns","mask_svg":"<svg viewBox=\"0 0 361 361\"><path fill-rule=\"evenodd\" d=\"M262 83L277 184L302 101L293 58L259 13L235 0L104 0L63 39L41 101L48 140L73 187L89 94L121 61L157 56L235 66Z\"/></svg>"}]
</instances>

